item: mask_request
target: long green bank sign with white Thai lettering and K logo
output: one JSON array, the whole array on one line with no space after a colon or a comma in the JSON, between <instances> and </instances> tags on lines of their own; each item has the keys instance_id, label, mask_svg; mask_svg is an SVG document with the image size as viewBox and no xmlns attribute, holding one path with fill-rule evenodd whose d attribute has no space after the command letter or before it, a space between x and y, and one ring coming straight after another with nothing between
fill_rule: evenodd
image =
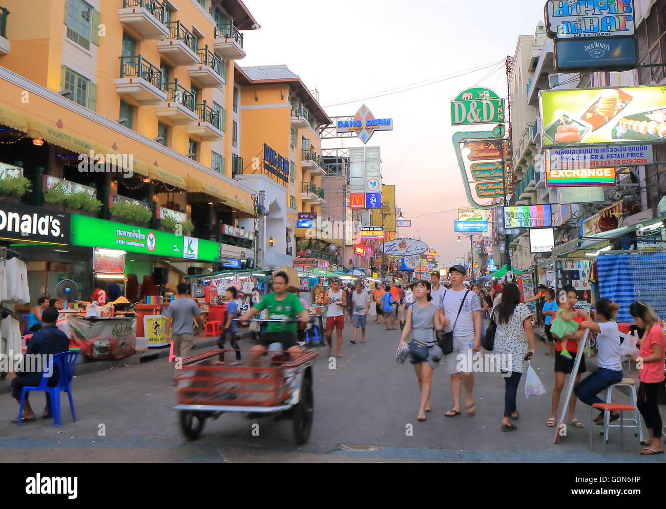
<instances>
[{"instance_id":1,"label":"long green bank sign with white Thai lettering and K logo","mask_svg":"<svg viewBox=\"0 0 666 509\"><path fill-rule=\"evenodd\" d=\"M123 250L157 256L216 261L220 244L193 237L180 237L143 226L115 223L72 214L71 244L89 248Z\"/></svg>"}]
</instances>

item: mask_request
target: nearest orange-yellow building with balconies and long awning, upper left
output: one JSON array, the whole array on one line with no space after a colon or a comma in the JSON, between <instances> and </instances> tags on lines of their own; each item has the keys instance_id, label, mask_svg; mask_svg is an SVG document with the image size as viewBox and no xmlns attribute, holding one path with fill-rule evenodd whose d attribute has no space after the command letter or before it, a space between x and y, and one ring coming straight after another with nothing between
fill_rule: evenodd
<instances>
[{"instance_id":1,"label":"nearest orange-yellow building with balconies and long awning, upper left","mask_svg":"<svg viewBox=\"0 0 666 509\"><path fill-rule=\"evenodd\" d=\"M150 210L153 228L166 210L222 256L251 252L220 225L254 216L253 190L233 178L232 112L243 31L258 28L240 0L0 0L0 163L31 181L23 204L79 186L103 220L119 201ZM77 168L99 155L107 172Z\"/></svg>"}]
</instances>

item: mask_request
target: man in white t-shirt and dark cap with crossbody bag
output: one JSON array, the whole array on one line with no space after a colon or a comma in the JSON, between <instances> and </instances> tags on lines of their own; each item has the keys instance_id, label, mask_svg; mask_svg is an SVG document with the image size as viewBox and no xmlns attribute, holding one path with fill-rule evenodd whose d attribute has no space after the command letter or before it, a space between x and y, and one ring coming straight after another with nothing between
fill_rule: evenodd
<instances>
[{"instance_id":1,"label":"man in white t-shirt and dark cap with crossbody bag","mask_svg":"<svg viewBox=\"0 0 666 509\"><path fill-rule=\"evenodd\" d=\"M481 349L481 303L478 295L464 286L466 275L467 270L462 265L454 265L449 269L451 289L444 291L439 305L440 312L446 317L445 323L448 322L445 332L454 333L454 351L444 355L446 371L451 375L451 393L454 397L454 407L445 414L446 417L460 415L460 393L463 385L467 393L466 414L472 416L476 412L472 397L472 350Z\"/></svg>"}]
</instances>

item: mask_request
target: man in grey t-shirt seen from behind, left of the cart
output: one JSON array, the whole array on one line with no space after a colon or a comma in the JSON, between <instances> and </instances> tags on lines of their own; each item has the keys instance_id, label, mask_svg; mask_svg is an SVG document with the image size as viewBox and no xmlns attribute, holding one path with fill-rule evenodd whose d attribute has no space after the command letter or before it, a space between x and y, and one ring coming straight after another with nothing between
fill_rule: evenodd
<instances>
[{"instance_id":1,"label":"man in grey t-shirt seen from behind, left of the cart","mask_svg":"<svg viewBox=\"0 0 666 509\"><path fill-rule=\"evenodd\" d=\"M199 326L204 322L198 305L188 297L189 289L187 283L178 283L176 287L178 297L169 303L164 313L167 334L170 325L173 324L171 341L173 342L173 355L176 359L190 357L190 352L194 348L194 320Z\"/></svg>"}]
</instances>

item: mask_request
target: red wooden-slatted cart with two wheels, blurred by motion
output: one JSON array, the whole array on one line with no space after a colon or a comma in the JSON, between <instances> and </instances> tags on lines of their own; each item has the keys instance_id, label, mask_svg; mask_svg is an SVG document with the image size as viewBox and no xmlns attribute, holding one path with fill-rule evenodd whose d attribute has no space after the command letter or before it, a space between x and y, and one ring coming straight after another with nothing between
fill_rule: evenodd
<instances>
[{"instance_id":1,"label":"red wooden-slatted cart with two wheels, blurred by motion","mask_svg":"<svg viewBox=\"0 0 666 509\"><path fill-rule=\"evenodd\" d=\"M272 414L291 419L296 442L306 443L314 417L312 361L318 353L304 351L291 359L289 353L271 349L256 365L214 364L226 351L233 350L209 351L183 361L174 410L184 436L196 440L206 419L240 412L248 417Z\"/></svg>"}]
</instances>

